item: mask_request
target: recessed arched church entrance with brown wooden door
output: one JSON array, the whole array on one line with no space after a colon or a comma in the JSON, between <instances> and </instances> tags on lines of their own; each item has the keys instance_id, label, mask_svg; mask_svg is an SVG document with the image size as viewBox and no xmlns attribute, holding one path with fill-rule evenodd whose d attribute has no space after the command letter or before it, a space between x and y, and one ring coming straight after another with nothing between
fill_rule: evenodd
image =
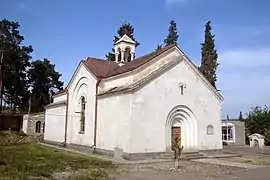
<instances>
[{"instance_id":1,"label":"recessed arched church entrance with brown wooden door","mask_svg":"<svg viewBox=\"0 0 270 180\"><path fill-rule=\"evenodd\" d=\"M186 106L174 107L166 120L166 151L171 151L173 137L181 138L184 151L198 150L198 125L193 112Z\"/></svg>"}]
</instances>

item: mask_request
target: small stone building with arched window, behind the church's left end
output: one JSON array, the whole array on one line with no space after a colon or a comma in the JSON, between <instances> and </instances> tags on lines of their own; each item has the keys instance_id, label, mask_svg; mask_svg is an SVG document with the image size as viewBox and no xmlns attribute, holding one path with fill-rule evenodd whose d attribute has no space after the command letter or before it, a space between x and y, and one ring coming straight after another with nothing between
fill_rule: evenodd
<instances>
[{"instance_id":1,"label":"small stone building with arched window, behind the church's left end","mask_svg":"<svg viewBox=\"0 0 270 180\"><path fill-rule=\"evenodd\" d=\"M30 136L44 134L45 112L26 114L23 116L23 132Z\"/></svg>"}]
</instances>

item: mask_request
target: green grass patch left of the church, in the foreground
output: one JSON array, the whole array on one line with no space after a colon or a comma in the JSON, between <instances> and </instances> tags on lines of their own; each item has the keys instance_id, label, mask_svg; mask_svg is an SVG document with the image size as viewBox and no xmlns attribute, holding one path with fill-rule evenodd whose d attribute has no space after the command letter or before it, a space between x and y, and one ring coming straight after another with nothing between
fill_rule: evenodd
<instances>
[{"instance_id":1,"label":"green grass patch left of the church, in the foreground","mask_svg":"<svg viewBox=\"0 0 270 180\"><path fill-rule=\"evenodd\" d=\"M0 145L0 179L21 180L29 176L52 179L54 172L74 172L86 169L89 172L95 171L91 173L91 178L94 180L96 177L99 179L99 171L113 168L114 165L109 161L44 147L34 142ZM104 178L106 179L107 175Z\"/></svg>"}]
</instances>

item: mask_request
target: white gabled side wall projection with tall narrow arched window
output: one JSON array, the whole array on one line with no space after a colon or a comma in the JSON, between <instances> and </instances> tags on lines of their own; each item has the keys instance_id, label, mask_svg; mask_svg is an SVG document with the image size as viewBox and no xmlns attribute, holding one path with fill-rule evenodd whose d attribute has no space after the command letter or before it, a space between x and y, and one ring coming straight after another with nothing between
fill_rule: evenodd
<instances>
[{"instance_id":1,"label":"white gabled side wall projection with tall narrow arched window","mask_svg":"<svg viewBox=\"0 0 270 180\"><path fill-rule=\"evenodd\" d=\"M94 143L94 117L96 78L81 64L69 89L67 143L92 146ZM85 97L85 131L80 133L81 99Z\"/></svg>"}]
</instances>

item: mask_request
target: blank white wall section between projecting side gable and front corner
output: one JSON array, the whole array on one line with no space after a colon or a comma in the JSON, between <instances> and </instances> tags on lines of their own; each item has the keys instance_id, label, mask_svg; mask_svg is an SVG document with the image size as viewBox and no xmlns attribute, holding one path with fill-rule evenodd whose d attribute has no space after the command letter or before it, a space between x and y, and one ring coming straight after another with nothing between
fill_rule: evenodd
<instances>
[{"instance_id":1,"label":"blank white wall section between projecting side gable and front corner","mask_svg":"<svg viewBox=\"0 0 270 180\"><path fill-rule=\"evenodd\" d=\"M129 152L130 94L100 98L98 101L97 148Z\"/></svg>"}]
</instances>

